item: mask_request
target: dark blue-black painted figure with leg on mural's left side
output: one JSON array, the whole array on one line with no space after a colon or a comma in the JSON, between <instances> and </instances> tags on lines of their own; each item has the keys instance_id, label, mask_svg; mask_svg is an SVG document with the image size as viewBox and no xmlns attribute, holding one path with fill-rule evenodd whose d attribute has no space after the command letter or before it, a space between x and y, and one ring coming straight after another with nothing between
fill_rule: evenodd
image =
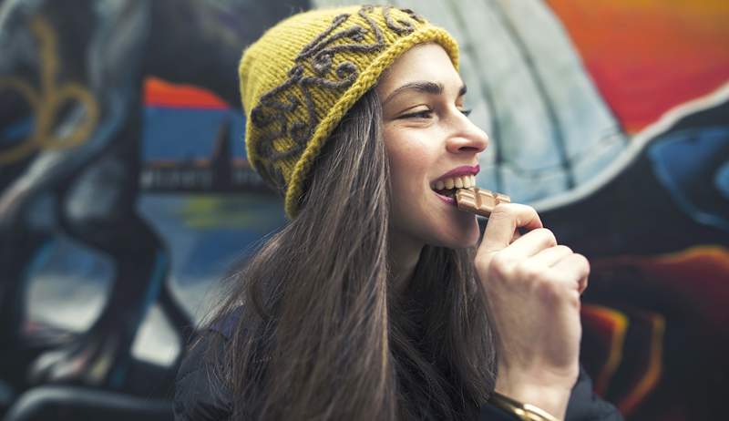
<instances>
[{"instance_id":1,"label":"dark blue-black painted figure with leg on mural's left side","mask_svg":"<svg viewBox=\"0 0 729 421\"><path fill-rule=\"evenodd\" d=\"M123 387L152 303L180 333L190 326L165 282L166 246L136 209L144 77L207 87L238 106L241 47L305 5L180 3L6 1L0 9L0 352L22 347L26 282L59 230L114 263L97 320L36 358L34 382ZM4 373L17 371L3 361Z\"/></svg>"}]
</instances>

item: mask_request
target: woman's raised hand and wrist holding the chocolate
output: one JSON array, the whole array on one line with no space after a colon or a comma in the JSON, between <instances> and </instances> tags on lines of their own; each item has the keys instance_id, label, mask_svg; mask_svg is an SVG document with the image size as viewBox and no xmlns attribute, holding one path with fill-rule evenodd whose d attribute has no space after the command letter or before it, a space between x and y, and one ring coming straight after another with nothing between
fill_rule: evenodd
<instances>
[{"instance_id":1,"label":"woman's raised hand and wrist holding the chocolate","mask_svg":"<svg viewBox=\"0 0 729 421\"><path fill-rule=\"evenodd\" d=\"M558 245L533 208L508 203L491 213L475 263L498 334L496 390L563 418L580 373L589 262Z\"/></svg>"}]
</instances>

